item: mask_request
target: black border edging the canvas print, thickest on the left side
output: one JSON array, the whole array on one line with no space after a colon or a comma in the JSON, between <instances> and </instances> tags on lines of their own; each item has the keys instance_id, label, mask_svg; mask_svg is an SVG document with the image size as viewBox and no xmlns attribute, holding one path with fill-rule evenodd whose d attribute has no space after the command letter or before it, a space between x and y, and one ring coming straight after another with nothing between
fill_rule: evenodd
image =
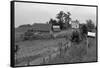
<instances>
[{"instance_id":1,"label":"black border edging the canvas print, thickest on the left side","mask_svg":"<svg viewBox=\"0 0 100 68\"><path fill-rule=\"evenodd\" d=\"M40 4L53 4L53 5L74 5L74 6L84 6L84 7L96 7L96 25L97 25L97 32L96 32L96 56L97 56L97 60L96 61L93 61L93 62L97 62L98 61L98 6L97 5L82 5L82 4L65 4L65 3L50 3L50 2L35 2L35 1L11 1L11 57L10 57L10 66L11 67L26 67L26 66L15 66L15 60L14 60L14 57L15 57L15 53L14 53L14 42L15 42L15 2L20 2L20 3L40 3ZM76 64L77 62L75 62ZM90 63L90 62L78 62L78 63ZM74 64L74 63L61 63L61 64ZM59 65L59 64L45 64L45 65ZM29 66L44 66L44 65L29 65Z\"/></svg>"}]
</instances>

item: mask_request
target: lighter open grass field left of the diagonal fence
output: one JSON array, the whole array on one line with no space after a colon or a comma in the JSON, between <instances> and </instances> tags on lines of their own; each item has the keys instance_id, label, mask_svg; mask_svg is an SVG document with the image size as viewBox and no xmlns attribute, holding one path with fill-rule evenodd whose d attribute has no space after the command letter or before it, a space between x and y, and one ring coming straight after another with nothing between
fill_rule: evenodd
<instances>
[{"instance_id":1,"label":"lighter open grass field left of the diagonal fence","mask_svg":"<svg viewBox=\"0 0 100 68\"><path fill-rule=\"evenodd\" d=\"M51 39L51 40L34 40L16 43L19 45L20 50L16 55L16 60L20 60L23 57L35 56L42 54L49 50L50 48L58 47L58 43L62 41L65 42L65 38L61 39ZM22 60L24 61L24 60Z\"/></svg>"}]
</instances>

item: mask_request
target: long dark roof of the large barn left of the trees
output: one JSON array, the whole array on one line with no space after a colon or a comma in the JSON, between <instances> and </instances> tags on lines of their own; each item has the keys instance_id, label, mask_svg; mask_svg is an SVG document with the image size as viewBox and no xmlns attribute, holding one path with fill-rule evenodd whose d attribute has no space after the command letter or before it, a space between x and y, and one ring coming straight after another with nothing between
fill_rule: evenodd
<instances>
[{"instance_id":1,"label":"long dark roof of the large barn left of the trees","mask_svg":"<svg viewBox=\"0 0 100 68\"><path fill-rule=\"evenodd\" d=\"M33 24L32 29L38 31L50 31L51 26L50 24L35 23Z\"/></svg>"}]
</instances>

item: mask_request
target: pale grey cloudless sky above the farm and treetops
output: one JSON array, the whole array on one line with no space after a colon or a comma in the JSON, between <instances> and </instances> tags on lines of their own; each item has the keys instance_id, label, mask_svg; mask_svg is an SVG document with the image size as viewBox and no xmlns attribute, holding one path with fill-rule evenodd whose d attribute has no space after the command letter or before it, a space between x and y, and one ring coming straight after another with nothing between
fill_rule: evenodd
<instances>
[{"instance_id":1,"label":"pale grey cloudless sky above the farm and treetops","mask_svg":"<svg viewBox=\"0 0 100 68\"><path fill-rule=\"evenodd\" d=\"M46 23L51 18L55 19L60 11L70 12L72 20L78 19L80 23L91 19L96 24L96 7L16 2L15 27Z\"/></svg>"}]
</instances>

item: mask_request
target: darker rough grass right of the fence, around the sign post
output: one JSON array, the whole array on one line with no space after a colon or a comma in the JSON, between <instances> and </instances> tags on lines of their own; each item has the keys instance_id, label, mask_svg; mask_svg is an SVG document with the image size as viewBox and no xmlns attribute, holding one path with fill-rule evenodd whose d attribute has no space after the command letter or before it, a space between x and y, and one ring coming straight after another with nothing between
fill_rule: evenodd
<instances>
[{"instance_id":1,"label":"darker rough grass right of the fence, around the sign post","mask_svg":"<svg viewBox=\"0 0 100 68\"><path fill-rule=\"evenodd\" d=\"M85 46L85 43L80 43L78 46ZM75 45L73 45L75 46ZM78 57L77 54L82 54L80 50L75 48L70 48L64 57L57 56L54 60L50 61L50 64L57 63L76 63L76 62L93 62L97 61L97 48L96 48L96 39L89 38L89 47L87 50L87 54L83 54L81 57ZM73 50L72 50L73 49ZM72 53L72 55L70 55ZM84 52L83 52L84 53Z\"/></svg>"}]
</instances>

